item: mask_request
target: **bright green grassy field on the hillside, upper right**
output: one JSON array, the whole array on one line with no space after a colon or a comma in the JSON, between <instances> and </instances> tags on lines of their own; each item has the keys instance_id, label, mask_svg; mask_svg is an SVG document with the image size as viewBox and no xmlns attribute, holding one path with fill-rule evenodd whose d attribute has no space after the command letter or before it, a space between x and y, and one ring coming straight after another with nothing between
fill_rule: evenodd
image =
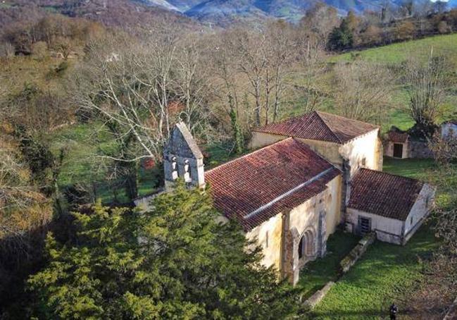
<instances>
[{"instance_id":1,"label":"bright green grassy field on the hillside, upper right","mask_svg":"<svg viewBox=\"0 0 457 320\"><path fill-rule=\"evenodd\" d=\"M412 40L408 42L399 42L389 44L384 47L366 49L363 51L352 51L347 54L335 56L333 61L351 60L353 56L360 56L368 61L382 63L401 63L410 56L419 56L427 59L430 52L434 56L446 56L450 61L457 61L457 34L438 35L427 37L425 39Z\"/></svg>"}]
</instances>

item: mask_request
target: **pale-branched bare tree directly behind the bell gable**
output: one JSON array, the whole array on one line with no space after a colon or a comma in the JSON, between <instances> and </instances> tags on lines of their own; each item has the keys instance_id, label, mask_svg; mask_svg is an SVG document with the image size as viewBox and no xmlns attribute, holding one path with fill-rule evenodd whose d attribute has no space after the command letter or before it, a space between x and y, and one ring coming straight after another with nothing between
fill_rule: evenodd
<instances>
[{"instance_id":1,"label":"pale-branched bare tree directly behind the bell gable","mask_svg":"<svg viewBox=\"0 0 457 320\"><path fill-rule=\"evenodd\" d=\"M77 81L77 104L103 125L114 125L111 131L119 145L131 135L137 146L129 155L106 158L161 161L161 149L176 121L187 121L191 130L203 125L208 113L198 56L196 47L183 45L169 34L91 48Z\"/></svg>"}]
</instances>

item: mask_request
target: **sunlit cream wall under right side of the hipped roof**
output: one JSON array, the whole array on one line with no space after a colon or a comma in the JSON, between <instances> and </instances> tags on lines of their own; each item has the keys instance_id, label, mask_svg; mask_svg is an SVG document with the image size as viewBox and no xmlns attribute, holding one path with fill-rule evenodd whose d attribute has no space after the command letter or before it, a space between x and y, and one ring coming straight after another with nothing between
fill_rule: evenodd
<instances>
[{"instance_id":1,"label":"sunlit cream wall under right side of the hipped roof","mask_svg":"<svg viewBox=\"0 0 457 320\"><path fill-rule=\"evenodd\" d=\"M373 170L382 170L382 142L379 129L361 135L339 147L339 154L349 160L351 177L363 166ZM365 161L364 161L365 159ZM363 165L365 162L365 165Z\"/></svg>"}]
</instances>

